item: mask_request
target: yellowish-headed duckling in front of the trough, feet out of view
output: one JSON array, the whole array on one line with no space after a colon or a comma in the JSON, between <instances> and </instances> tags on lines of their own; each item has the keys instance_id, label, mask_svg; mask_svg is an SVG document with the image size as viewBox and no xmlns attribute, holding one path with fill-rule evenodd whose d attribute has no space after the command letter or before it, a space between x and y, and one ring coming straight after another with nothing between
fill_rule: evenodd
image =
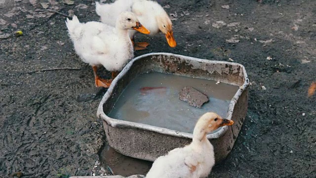
<instances>
[{"instance_id":1,"label":"yellowish-headed duckling in front of the trough, feet out of view","mask_svg":"<svg viewBox=\"0 0 316 178\"><path fill-rule=\"evenodd\" d=\"M146 178L206 178L215 164L213 146L206 134L233 124L216 113L205 113L197 121L192 143L158 157Z\"/></svg>"}]
</instances>

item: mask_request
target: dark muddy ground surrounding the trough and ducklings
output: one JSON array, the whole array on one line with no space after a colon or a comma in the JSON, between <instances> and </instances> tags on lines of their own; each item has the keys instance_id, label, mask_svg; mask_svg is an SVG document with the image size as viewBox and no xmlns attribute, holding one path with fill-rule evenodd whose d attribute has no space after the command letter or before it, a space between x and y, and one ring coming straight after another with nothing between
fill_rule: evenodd
<instances>
[{"instance_id":1,"label":"dark muddy ground surrounding the trough and ducklings","mask_svg":"<svg viewBox=\"0 0 316 178\"><path fill-rule=\"evenodd\" d=\"M90 175L106 139L96 119L106 89L95 88L91 67L75 54L66 17L35 10L48 5L73 10L82 22L99 20L94 0L36 1L0 0L0 178L19 171L25 178ZM237 142L210 178L315 178L316 96L307 98L307 89L316 80L316 0L159 3L172 13L178 45L170 48L161 34L139 35L136 41L151 45L135 56L234 60L251 82ZM17 30L23 36L15 37ZM52 68L68 69L39 71Z\"/></svg>"}]
</instances>

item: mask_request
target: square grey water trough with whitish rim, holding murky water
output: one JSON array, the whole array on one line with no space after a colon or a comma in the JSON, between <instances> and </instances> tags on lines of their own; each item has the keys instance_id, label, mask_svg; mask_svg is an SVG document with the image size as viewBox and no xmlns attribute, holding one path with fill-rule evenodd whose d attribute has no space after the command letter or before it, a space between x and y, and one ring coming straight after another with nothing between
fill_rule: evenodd
<instances>
[{"instance_id":1,"label":"square grey water trough with whitish rim, holding murky water","mask_svg":"<svg viewBox=\"0 0 316 178\"><path fill-rule=\"evenodd\" d=\"M233 120L207 138L219 162L231 152L248 107L249 80L245 68L171 53L149 53L131 60L105 93L97 116L108 143L119 153L155 161L192 141L199 116L216 112ZM181 88L191 86L207 95L202 108L179 100Z\"/></svg>"}]
</instances>

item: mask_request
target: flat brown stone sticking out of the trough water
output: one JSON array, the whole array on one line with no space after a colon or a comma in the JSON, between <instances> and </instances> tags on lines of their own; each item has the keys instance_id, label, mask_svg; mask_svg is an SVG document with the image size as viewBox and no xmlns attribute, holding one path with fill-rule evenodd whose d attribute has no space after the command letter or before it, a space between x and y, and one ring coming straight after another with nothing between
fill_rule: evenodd
<instances>
[{"instance_id":1,"label":"flat brown stone sticking out of the trough water","mask_svg":"<svg viewBox=\"0 0 316 178\"><path fill-rule=\"evenodd\" d=\"M188 102L190 106L202 108L202 105L208 101L205 94L199 92L193 87L184 87L179 92L179 99Z\"/></svg>"}]
</instances>

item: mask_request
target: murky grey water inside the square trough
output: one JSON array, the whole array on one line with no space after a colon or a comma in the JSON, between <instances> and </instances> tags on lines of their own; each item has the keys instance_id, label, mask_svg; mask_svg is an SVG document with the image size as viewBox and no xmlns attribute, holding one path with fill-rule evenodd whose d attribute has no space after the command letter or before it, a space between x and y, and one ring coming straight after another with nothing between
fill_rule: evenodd
<instances>
[{"instance_id":1,"label":"murky grey water inside the square trough","mask_svg":"<svg viewBox=\"0 0 316 178\"><path fill-rule=\"evenodd\" d=\"M193 133L197 119L213 111L226 116L238 86L158 72L135 78L122 92L110 117ZM179 99L179 91L191 86L208 96L202 108L190 106ZM216 132L216 131L215 131Z\"/></svg>"}]
</instances>

